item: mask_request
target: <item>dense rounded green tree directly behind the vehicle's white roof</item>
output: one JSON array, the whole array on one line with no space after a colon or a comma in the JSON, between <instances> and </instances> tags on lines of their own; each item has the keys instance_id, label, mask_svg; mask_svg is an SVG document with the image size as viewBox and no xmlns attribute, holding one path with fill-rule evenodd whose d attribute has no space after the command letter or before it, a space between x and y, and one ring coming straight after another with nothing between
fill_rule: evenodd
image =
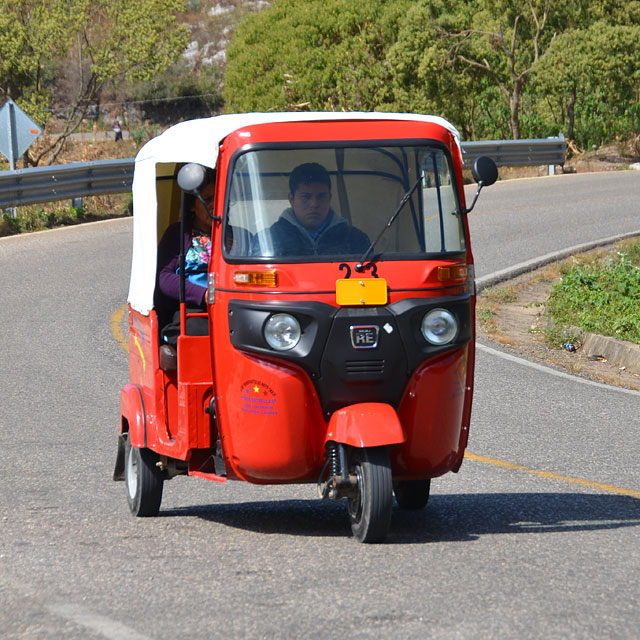
<instances>
[{"instance_id":1,"label":"dense rounded green tree directly behind the vehicle's white roof","mask_svg":"<svg viewBox=\"0 0 640 640\"><path fill-rule=\"evenodd\" d=\"M392 102L386 53L407 0L275 0L227 50L226 111L374 110Z\"/></svg>"}]
</instances>

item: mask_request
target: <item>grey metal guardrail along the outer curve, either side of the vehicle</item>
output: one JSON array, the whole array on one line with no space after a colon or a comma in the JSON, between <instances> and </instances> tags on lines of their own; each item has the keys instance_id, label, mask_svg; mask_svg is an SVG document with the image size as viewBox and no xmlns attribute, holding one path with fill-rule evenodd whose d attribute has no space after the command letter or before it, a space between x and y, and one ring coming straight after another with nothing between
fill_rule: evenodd
<instances>
[{"instance_id":1,"label":"grey metal guardrail along the outer curve, either side of the vehicle","mask_svg":"<svg viewBox=\"0 0 640 640\"><path fill-rule=\"evenodd\" d=\"M462 143L462 161L470 167L479 156L498 166L564 164L566 144L558 138L485 140ZM35 169L0 171L0 208L54 202L131 189L133 158L74 162Z\"/></svg>"}]
</instances>

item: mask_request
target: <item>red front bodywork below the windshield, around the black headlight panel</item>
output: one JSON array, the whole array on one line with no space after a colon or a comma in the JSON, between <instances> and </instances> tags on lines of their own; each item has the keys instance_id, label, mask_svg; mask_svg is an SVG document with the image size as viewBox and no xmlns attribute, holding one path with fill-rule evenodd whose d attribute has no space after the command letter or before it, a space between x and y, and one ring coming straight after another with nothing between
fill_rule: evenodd
<instances>
[{"instance_id":1,"label":"red front bodywork below the windshield, around the black headlight panel","mask_svg":"<svg viewBox=\"0 0 640 640\"><path fill-rule=\"evenodd\" d=\"M444 263L420 263L417 269L408 268L406 262L379 263L381 277L403 285L400 290L390 291L389 301L406 298L407 290L424 287L438 264ZM304 371L243 354L232 346L228 336L228 301L264 301L272 295L248 293L235 286L232 274L242 268L242 265L221 265L220 276L216 278L220 289L212 305L216 335L212 344L214 377L225 381L225 392L216 400L218 428L228 472L260 483L315 481L323 463L326 439L353 446L364 446L364 442L368 443L366 446L394 444L391 449L394 473L403 476L432 477L453 467L461 453L462 437L467 433L462 431L462 423L466 405L467 420L470 411L467 379L473 373L468 368L472 344L428 361L416 371L397 414L388 405L371 403L367 420L355 419L357 414L352 406L346 409L344 419L334 415L327 425L313 384ZM256 265L252 268L256 270ZM304 292L305 300L335 305L337 265L277 265L277 270L283 283L278 300L299 300L300 292ZM291 277L294 272L298 280L295 295ZM289 295L282 291L288 287L291 287ZM461 291L461 287L445 291L434 287L431 295L441 297ZM415 297L415 292L412 295ZM333 431L334 423L341 425L341 435L326 436ZM346 425L351 433L347 433ZM395 444L403 440L404 444Z\"/></svg>"}]
</instances>

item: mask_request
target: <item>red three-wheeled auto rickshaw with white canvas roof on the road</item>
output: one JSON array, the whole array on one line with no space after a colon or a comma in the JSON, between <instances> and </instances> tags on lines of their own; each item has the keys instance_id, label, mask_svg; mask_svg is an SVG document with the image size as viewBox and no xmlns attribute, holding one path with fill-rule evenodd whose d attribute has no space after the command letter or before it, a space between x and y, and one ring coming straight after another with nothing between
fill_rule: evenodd
<instances>
[{"instance_id":1,"label":"red three-wheeled auto rickshaw with white canvas roof on the road","mask_svg":"<svg viewBox=\"0 0 640 640\"><path fill-rule=\"evenodd\" d=\"M316 173L296 182L301 165ZM207 171L206 308L187 308L181 255L177 347L161 357L158 243L189 195L209 206ZM495 164L480 158L473 175L477 198ZM459 135L438 117L223 115L148 142L133 180L114 473L131 511L157 514L176 475L317 483L322 498L346 499L362 542L386 537L394 495L423 507L469 433L469 210ZM190 335L192 317L208 335Z\"/></svg>"}]
</instances>

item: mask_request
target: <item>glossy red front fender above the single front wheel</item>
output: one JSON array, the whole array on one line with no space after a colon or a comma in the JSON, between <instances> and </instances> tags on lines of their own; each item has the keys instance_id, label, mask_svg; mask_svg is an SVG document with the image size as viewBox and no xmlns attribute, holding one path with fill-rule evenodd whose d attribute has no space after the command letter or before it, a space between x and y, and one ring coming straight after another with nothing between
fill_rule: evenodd
<instances>
[{"instance_id":1,"label":"glossy red front fender above the single front wheel","mask_svg":"<svg viewBox=\"0 0 640 640\"><path fill-rule=\"evenodd\" d=\"M381 447L405 441L396 410L382 402L362 402L338 409L329 420L325 442L352 447Z\"/></svg>"}]
</instances>

